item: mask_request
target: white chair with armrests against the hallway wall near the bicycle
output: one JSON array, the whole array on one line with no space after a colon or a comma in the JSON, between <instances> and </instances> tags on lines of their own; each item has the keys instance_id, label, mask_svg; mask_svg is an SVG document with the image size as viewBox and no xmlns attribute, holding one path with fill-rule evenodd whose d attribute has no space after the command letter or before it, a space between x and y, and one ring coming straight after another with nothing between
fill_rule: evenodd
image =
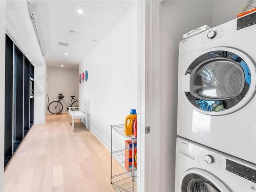
<instances>
[{"instance_id":1,"label":"white chair with armrests against the hallway wall near the bicycle","mask_svg":"<svg viewBox=\"0 0 256 192\"><path fill-rule=\"evenodd\" d=\"M69 122L72 117L72 131L74 131L75 119L85 119L86 129L88 129L88 117L89 117L89 105L90 99L82 99L80 106L69 107ZM79 110L72 111L72 109L78 108Z\"/></svg>"}]
</instances>

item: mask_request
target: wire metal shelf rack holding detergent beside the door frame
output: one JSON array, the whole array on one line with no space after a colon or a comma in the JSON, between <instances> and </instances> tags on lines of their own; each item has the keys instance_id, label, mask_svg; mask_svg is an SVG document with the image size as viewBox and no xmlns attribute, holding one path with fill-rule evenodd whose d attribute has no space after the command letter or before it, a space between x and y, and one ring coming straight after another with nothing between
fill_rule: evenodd
<instances>
[{"instance_id":1,"label":"wire metal shelf rack holding detergent beside the door frame","mask_svg":"<svg viewBox=\"0 0 256 192\"><path fill-rule=\"evenodd\" d=\"M117 132L121 135L125 140L132 141L132 150L133 150L133 167L131 171L128 171L124 165L124 153L125 150L113 151L113 131ZM136 170L134 167L134 149L135 142L137 141L134 136L126 136L124 135L124 124L111 125L111 184L114 186L116 191L136 191ZM113 176L113 159L119 163L119 165L124 169L123 173L117 174Z\"/></svg>"}]
</instances>

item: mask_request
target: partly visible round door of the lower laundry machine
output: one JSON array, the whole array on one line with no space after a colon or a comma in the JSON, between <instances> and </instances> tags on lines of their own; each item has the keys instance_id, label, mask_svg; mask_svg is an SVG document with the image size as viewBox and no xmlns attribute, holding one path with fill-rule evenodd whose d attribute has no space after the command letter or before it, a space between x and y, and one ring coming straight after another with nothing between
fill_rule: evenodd
<instances>
[{"instance_id":1,"label":"partly visible round door of the lower laundry machine","mask_svg":"<svg viewBox=\"0 0 256 192\"><path fill-rule=\"evenodd\" d=\"M227 186L202 169L189 169L182 177L182 192L231 192Z\"/></svg>"}]
</instances>

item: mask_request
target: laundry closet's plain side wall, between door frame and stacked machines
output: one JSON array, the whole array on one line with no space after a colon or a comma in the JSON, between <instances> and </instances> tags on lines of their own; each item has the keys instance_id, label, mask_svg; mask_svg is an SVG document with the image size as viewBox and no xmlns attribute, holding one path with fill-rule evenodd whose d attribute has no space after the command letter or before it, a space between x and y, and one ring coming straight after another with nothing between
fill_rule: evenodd
<instances>
[{"instance_id":1,"label":"laundry closet's plain side wall, between door frame and stacked machines","mask_svg":"<svg viewBox=\"0 0 256 192\"><path fill-rule=\"evenodd\" d=\"M163 1L161 4L159 191L175 190L179 41L184 33L205 24L211 26L209 1Z\"/></svg>"}]
</instances>

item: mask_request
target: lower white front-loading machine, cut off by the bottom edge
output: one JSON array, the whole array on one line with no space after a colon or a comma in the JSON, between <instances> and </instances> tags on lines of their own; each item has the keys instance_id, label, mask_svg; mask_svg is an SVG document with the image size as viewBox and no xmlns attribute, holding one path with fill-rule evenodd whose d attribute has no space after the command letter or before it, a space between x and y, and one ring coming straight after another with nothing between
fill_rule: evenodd
<instances>
[{"instance_id":1,"label":"lower white front-loading machine, cut off by the bottom edge","mask_svg":"<svg viewBox=\"0 0 256 192\"><path fill-rule=\"evenodd\" d=\"M256 165L187 139L177 139L176 192L256 191Z\"/></svg>"}]
</instances>

